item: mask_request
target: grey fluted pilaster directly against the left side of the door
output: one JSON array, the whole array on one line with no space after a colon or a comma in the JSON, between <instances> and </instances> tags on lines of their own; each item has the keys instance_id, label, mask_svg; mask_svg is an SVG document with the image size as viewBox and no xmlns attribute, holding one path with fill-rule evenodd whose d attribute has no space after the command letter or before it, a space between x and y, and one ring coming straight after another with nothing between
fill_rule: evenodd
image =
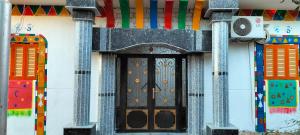
<instances>
[{"instance_id":1,"label":"grey fluted pilaster directly against the left side of the door","mask_svg":"<svg viewBox=\"0 0 300 135\"><path fill-rule=\"evenodd\" d=\"M116 55L102 54L99 88L99 129L98 135L114 135Z\"/></svg>"}]
</instances>

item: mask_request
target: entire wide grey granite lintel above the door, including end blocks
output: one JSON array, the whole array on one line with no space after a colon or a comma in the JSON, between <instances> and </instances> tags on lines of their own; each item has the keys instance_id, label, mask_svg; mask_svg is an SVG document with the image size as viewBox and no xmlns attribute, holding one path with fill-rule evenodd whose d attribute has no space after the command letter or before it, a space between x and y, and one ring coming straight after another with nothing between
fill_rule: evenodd
<instances>
[{"instance_id":1,"label":"entire wide grey granite lintel above the door, including end blocks","mask_svg":"<svg viewBox=\"0 0 300 135\"><path fill-rule=\"evenodd\" d=\"M211 31L94 28L93 32L93 51L120 53L144 45L181 53L211 52Z\"/></svg>"}]
</instances>

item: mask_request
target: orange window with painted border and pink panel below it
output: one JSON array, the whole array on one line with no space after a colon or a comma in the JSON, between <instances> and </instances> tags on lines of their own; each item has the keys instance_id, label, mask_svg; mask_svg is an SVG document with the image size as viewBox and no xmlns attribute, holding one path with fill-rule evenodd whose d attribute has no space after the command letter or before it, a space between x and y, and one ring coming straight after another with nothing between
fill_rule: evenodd
<instances>
[{"instance_id":1,"label":"orange window with painted border and pink panel below it","mask_svg":"<svg viewBox=\"0 0 300 135\"><path fill-rule=\"evenodd\" d=\"M9 116L31 116L34 108L35 127L32 128L35 135L46 135L47 44L42 35L18 34L11 37L11 50L15 48L15 51L11 51L11 65L14 66L10 66Z\"/></svg>"}]
</instances>

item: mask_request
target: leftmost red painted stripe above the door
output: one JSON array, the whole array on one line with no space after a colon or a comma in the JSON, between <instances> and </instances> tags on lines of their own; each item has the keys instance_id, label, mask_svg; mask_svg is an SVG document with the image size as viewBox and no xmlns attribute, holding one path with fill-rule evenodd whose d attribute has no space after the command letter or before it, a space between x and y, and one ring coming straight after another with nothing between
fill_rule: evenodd
<instances>
[{"instance_id":1,"label":"leftmost red painted stripe above the door","mask_svg":"<svg viewBox=\"0 0 300 135\"><path fill-rule=\"evenodd\" d=\"M114 28L115 27L115 17L112 0L104 0L105 4L105 14L107 17L106 27Z\"/></svg>"}]
</instances>

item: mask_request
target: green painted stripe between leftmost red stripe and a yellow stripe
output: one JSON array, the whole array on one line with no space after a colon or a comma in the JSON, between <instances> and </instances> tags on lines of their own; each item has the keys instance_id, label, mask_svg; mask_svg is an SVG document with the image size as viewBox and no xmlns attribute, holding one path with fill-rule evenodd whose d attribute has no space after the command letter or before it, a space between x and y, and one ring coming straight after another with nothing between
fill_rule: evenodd
<instances>
[{"instance_id":1,"label":"green painted stripe between leftmost red stripe and a yellow stripe","mask_svg":"<svg viewBox=\"0 0 300 135\"><path fill-rule=\"evenodd\" d=\"M130 8L129 0L119 0L122 14L122 28L129 28L130 25Z\"/></svg>"}]
</instances>

